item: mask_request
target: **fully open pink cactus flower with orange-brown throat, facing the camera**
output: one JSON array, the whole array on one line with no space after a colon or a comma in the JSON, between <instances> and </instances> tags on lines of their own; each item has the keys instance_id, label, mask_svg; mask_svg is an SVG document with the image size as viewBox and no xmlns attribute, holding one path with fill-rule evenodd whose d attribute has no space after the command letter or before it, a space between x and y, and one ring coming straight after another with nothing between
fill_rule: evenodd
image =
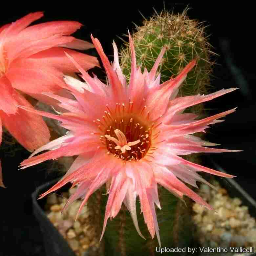
<instances>
[{"instance_id":1,"label":"fully open pink cactus flower with orange-brown throat, facing the camera","mask_svg":"<svg viewBox=\"0 0 256 256\"><path fill-rule=\"evenodd\" d=\"M59 106L70 112L53 115L22 107L32 113L51 117L61 122L70 131L63 137L35 150L31 157L21 163L26 168L48 159L78 155L66 175L40 198L72 182L77 185L64 209L78 198L83 201L81 211L88 198L104 183L107 186L108 201L101 238L108 218L114 218L124 203L131 213L136 230L139 230L136 198L139 196L141 211L152 238L157 235L160 244L159 227L155 205L160 208L157 185L160 184L175 196L183 195L212 209L182 181L196 186L196 181L205 181L197 172L233 178L210 168L182 159L181 155L198 152L235 152L235 150L214 149L205 146L216 144L203 141L191 134L203 132L209 124L235 109L207 117L195 119L195 114L184 114L189 106L211 100L234 91L236 88L220 90L209 95L176 97L179 87L196 61L191 61L176 78L160 84L160 74L156 76L158 65L165 49L162 49L152 70L141 73L136 66L133 41L130 37L132 67L129 85L126 84L118 64L117 46L114 47L114 62L111 65L98 39L94 46L107 73L107 85L97 77L91 77L69 56L86 83L66 77L67 84L76 100L66 99L47 93L59 101ZM38 156L35 154L50 150ZM178 179L179 178L179 179Z\"/></svg>"}]
</instances>

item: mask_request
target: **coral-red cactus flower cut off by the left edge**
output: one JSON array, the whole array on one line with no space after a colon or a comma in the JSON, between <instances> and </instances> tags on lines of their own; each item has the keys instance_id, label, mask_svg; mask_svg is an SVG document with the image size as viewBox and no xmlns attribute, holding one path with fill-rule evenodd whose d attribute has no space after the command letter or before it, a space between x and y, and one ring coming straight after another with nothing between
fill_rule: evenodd
<instances>
[{"instance_id":1,"label":"coral-red cactus flower cut off by the left edge","mask_svg":"<svg viewBox=\"0 0 256 256\"><path fill-rule=\"evenodd\" d=\"M53 102L41 93L60 92L65 86L63 73L71 75L76 71L64 51L72 54L85 70L98 66L95 57L67 49L94 47L69 36L81 27L79 22L53 21L29 26L42 16L42 12L30 13L0 28L0 143L3 125L31 152L49 142L50 134L42 117L18 109L17 104L32 107L24 94ZM0 182L1 175L0 172Z\"/></svg>"}]
</instances>

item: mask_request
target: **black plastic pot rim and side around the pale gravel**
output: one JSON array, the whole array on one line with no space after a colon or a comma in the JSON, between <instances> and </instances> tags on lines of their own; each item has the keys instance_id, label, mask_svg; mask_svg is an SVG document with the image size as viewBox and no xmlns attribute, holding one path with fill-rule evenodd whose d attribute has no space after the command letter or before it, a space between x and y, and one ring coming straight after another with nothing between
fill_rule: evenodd
<instances>
[{"instance_id":1,"label":"black plastic pot rim and side around the pale gravel","mask_svg":"<svg viewBox=\"0 0 256 256\"><path fill-rule=\"evenodd\" d=\"M216 163L212 162L208 158L208 162L217 170L224 170L218 166ZM53 186L58 179L55 179L51 182L41 185L32 193L32 203L33 203L33 212L36 219L40 224L42 234L44 237L45 252L47 256L75 256L75 253L70 248L67 241L62 237L58 230L53 226L50 220L47 218L43 205L46 203L46 199L37 200L40 194L45 192L51 186ZM248 206L250 215L256 218L256 202L246 193L246 191L234 180L232 179L218 179L222 187L224 187L230 197L238 197L242 200L243 205ZM65 190L65 187L62 188ZM61 189L61 190L62 190ZM220 254L221 255L221 254ZM250 254L247 256L256 256L256 253Z\"/></svg>"}]
</instances>

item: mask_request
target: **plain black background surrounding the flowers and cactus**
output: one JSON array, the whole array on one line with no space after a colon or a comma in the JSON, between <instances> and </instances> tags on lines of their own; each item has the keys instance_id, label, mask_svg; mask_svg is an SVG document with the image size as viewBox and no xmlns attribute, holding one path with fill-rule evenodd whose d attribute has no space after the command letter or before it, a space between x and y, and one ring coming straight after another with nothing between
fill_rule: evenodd
<instances>
[{"instance_id":1,"label":"plain black background surrounding the flowers and cactus","mask_svg":"<svg viewBox=\"0 0 256 256\"><path fill-rule=\"evenodd\" d=\"M127 34L135 28L132 22L141 25L143 20L139 11L149 17L163 9L163 2L149 1L119 1L102 4L98 1L90 3L83 1L82 5L72 2L58 7L50 4L41 6L15 5L1 10L0 26L15 21L32 11L45 11L45 17L40 22L51 20L76 20L84 27L75 36L90 41L90 33L97 37L107 55L113 54L112 41L120 47L122 42L117 37ZM224 1L223 1L224 2ZM214 52L220 56L215 59L218 65L214 67L211 85L214 91L239 87L240 90L221 96L209 103L212 114L234 107L237 111L227 117L225 122L214 125L208 133L211 142L222 144L222 148L241 149L240 153L211 154L211 159L233 175L235 180L254 198L255 193L255 41L254 41L254 8L246 4L225 5L216 1L203 3L171 3L165 2L166 10L181 12L191 8L188 15L192 19L206 21L210 26L207 33L214 46ZM64 3L64 2L63 2ZM176 1L177 3L177 1ZM14 8L14 9L13 9ZM51 180L54 173L48 173L46 167L34 166L18 170L18 164L29 154L16 151L15 157L3 157L0 153L3 167L3 178L7 189L0 188L2 223L2 245L0 255L40 255L44 249L39 226L32 215L31 193L40 184Z\"/></svg>"}]
</instances>

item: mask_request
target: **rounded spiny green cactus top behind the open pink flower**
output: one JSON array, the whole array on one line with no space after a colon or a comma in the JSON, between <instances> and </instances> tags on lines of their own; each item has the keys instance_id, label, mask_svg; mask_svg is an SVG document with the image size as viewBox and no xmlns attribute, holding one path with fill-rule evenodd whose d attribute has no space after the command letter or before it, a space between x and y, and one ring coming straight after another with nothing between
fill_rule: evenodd
<instances>
[{"instance_id":1,"label":"rounded spiny green cactus top behind the open pink flower","mask_svg":"<svg viewBox=\"0 0 256 256\"><path fill-rule=\"evenodd\" d=\"M142 71L144 68L150 71L161 49L166 47L166 53L158 68L161 81L165 82L170 77L178 75L186 64L196 58L197 65L188 73L179 93L180 96L207 93L213 65L210 56L215 53L210 50L211 45L207 41L204 29L203 23L188 18L187 9L176 15L162 11L149 20L145 19L143 26L136 26L137 31L133 33L138 65L141 65ZM121 68L129 80L131 70L129 43L125 42L120 55ZM193 110L201 113L202 105Z\"/></svg>"}]
</instances>

